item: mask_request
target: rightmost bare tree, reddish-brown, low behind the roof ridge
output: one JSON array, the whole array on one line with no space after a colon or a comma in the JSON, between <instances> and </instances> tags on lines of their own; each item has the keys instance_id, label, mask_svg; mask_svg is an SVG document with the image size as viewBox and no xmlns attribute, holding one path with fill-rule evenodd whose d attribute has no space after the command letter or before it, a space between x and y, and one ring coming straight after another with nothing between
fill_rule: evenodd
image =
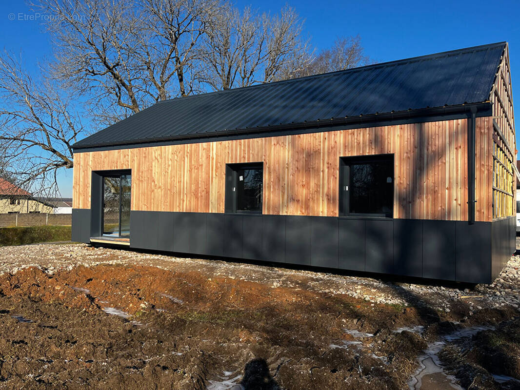
<instances>
[{"instance_id":1,"label":"rightmost bare tree, reddish-brown, low behind the roof ridge","mask_svg":"<svg viewBox=\"0 0 520 390\"><path fill-rule=\"evenodd\" d=\"M294 79L367 65L371 61L364 51L359 35L338 37L331 48L320 51L316 57L309 54L303 61L296 59L289 63L279 72L277 79Z\"/></svg>"}]
</instances>

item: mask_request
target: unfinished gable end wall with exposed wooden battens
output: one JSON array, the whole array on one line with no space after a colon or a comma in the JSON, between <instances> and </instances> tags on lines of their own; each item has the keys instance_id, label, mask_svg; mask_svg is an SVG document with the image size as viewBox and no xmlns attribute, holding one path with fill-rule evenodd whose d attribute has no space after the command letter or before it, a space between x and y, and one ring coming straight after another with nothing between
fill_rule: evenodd
<instances>
[{"instance_id":1,"label":"unfinished gable end wall with exposed wooden battens","mask_svg":"<svg viewBox=\"0 0 520 390\"><path fill-rule=\"evenodd\" d=\"M506 46L491 92L493 118L498 126L493 131L493 218L516 214L516 179L513 172L516 138L512 94L509 46Z\"/></svg>"}]
</instances>

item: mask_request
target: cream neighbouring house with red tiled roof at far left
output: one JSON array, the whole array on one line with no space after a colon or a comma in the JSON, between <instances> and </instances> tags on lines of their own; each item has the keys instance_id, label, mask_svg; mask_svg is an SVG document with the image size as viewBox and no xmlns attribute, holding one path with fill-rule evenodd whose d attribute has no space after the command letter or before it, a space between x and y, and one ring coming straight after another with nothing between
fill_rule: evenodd
<instances>
[{"instance_id":1,"label":"cream neighbouring house with red tiled roof at far left","mask_svg":"<svg viewBox=\"0 0 520 390\"><path fill-rule=\"evenodd\" d=\"M0 178L0 214L54 213L54 206Z\"/></svg>"}]
</instances>

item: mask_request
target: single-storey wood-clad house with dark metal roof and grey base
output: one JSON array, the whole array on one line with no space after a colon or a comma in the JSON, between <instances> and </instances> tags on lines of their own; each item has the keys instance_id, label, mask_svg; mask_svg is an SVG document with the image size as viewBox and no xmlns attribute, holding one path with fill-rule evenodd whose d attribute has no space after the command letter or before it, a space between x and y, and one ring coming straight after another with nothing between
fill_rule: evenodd
<instances>
[{"instance_id":1,"label":"single-storey wood-clad house with dark metal roof and grey base","mask_svg":"<svg viewBox=\"0 0 520 390\"><path fill-rule=\"evenodd\" d=\"M489 283L515 148L505 42L161 101L73 145L72 240Z\"/></svg>"}]
</instances>

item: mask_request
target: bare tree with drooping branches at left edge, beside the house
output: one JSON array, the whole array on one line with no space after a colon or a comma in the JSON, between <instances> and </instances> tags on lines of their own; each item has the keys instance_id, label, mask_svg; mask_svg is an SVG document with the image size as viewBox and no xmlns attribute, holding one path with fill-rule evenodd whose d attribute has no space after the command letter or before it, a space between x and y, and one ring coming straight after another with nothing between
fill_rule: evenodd
<instances>
[{"instance_id":1,"label":"bare tree with drooping branches at left edge, beside the house","mask_svg":"<svg viewBox=\"0 0 520 390\"><path fill-rule=\"evenodd\" d=\"M33 80L14 56L0 56L3 170L24 188L53 192L58 170L73 166L71 145L84 128L60 90L48 80Z\"/></svg>"}]
</instances>

